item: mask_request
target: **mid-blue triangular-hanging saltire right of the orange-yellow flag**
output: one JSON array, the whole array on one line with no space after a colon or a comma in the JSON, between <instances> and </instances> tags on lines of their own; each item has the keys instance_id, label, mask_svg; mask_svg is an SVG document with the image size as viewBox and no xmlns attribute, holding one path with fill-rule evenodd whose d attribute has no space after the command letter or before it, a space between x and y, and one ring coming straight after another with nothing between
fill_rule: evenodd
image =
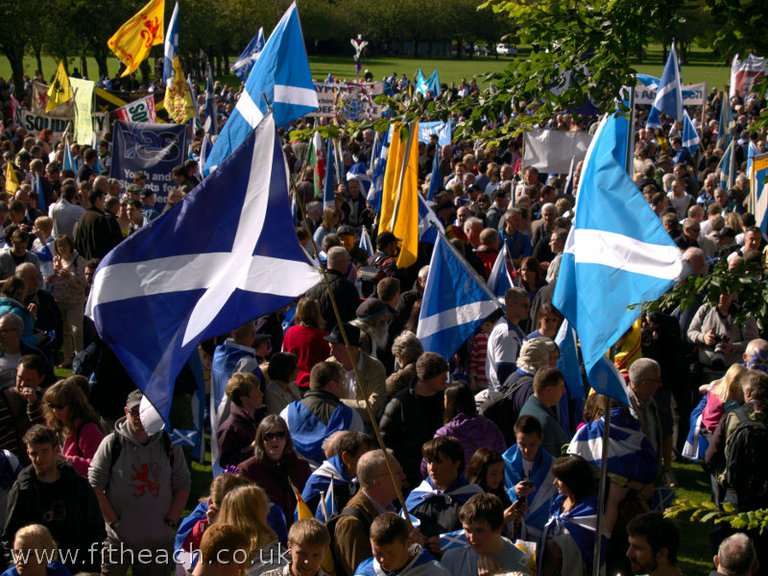
<instances>
[{"instance_id":1,"label":"mid-blue triangular-hanging saltire right of the orange-yellow flag","mask_svg":"<svg viewBox=\"0 0 768 576\"><path fill-rule=\"evenodd\" d=\"M438 234L416 330L424 350L450 358L498 308L493 293L445 235Z\"/></svg>"}]
</instances>

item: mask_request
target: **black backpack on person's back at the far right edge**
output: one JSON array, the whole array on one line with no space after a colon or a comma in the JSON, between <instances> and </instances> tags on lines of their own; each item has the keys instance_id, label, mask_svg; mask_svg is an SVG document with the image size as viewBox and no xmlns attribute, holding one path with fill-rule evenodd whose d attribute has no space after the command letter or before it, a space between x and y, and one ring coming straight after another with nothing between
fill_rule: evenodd
<instances>
[{"instance_id":1,"label":"black backpack on person's back at the far right edge","mask_svg":"<svg viewBox=\"0 0 768 576\"><path fill-rule=\"evenodd\" d=\"M768 507L768 422L751 420L744 408L734 410L739 423L725 449L726 487L736 491L740 510Z\"/></svg>"}]
</instances>

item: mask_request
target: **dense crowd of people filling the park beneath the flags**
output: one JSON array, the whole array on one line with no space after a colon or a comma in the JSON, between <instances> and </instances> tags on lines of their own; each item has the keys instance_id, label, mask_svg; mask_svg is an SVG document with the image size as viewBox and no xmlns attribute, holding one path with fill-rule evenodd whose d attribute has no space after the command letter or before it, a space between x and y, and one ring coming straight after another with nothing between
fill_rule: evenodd
<instances>
[{"instance_id":1,"label":"dense crowd of people filling the park beneath the flags","mask_svg":"<svg viewBox=\"0 0 768 576\"><path fill-rule=\"evenodd\" d=\"M407 91L405 77L389 82ZM476 89L462 83L435 96ZM230 92L218 87L222 122L236 100ZM646 129L642 111L636 120L634 181L702 269L738 269L768 254L743 170L750 145L765 151L765 131L754 126L763 103L727 103L742 170L723 187L716 115L724 97L713 91L709 116L697 119L696 155L677 124ZM563 113L548 127L591 130L595 120ZM68 171L56 135L6 118L0 151L14 178L4 179L0 199L0 516L11 571L161 575L176 561L180 574L198 576L580 575L599 564L610 574L662 576L680 574L679 530L661 514L677 487L675 459L705 463L714 501L768 507L760 456L768 341L754 317L737 320L738 291L643 314L614 345L628 403L584 400L574 390L586 382L566 381L557 368L563 318L552 305L581 164L547 175L522 165L520 141L440 146L435 136L419 144L419 179L426 193L439 178L433 209L446 236L486 280L505 246L515 285L455 355L424 351L415 334L431 246L423 242L418 262L401 269L400 239L377 234L367 177L375 140L370 129L342 136L345 177L324 208L307 143L285 136L304 206L286 234L325 270L328 286L310 289L290 313L201 345L211 388L226 396L211 408L223 472L185 516L188 454L167 432L147 433L142 383L83 316L99 260L161 217L155 195L144 174L123 190L99 173L110 165L108 138L97 149L72 145L78 169ZM193 158L173 170L177 187L163 211L199 183L196 171ZM41 194L32 190L37 179ZM363 232L372 253L360 245ZM57 366L76 375L56 381ZM191 427L195 390L187 366L173 427ZM599 439L609 412L601 502ZM721 530L714 570L758 573L768 549L755 552L759 539ZM20 559L53 549L60 553L45 562Z\"/></svg>"}]
</instances>

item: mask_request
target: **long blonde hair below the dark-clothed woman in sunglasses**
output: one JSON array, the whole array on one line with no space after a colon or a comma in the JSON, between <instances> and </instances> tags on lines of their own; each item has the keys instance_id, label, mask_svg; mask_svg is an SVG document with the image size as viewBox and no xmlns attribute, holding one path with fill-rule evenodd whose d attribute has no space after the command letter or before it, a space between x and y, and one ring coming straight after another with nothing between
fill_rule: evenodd
<instances>
[{"instance_id":1,"label":"long blonde hair below the dark-clothed woman in sunglasses","mask_svg":"<svg viewBox=\"0 0 768 576\"><path fill-rule=\"evenodd\" d=\"M277 540L274 530L267 524L269 498L255 484L239 486L224 495L216 523L232 524L244 530L251 538L253 550L266 548Z\"/></svg>"}]
</instances>

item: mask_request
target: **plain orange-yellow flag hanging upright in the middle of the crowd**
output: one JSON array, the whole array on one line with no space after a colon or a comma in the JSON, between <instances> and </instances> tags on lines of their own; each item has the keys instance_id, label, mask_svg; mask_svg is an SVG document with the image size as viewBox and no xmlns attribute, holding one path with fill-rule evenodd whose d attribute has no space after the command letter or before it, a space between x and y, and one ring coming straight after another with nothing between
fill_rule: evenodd
<instances>
[{"instance_id":1,"label":"plain orange-yellow flag hanging upright in the middle of the crowd","mask_svg":"<svg viewBox=\"0 0 768 576\"><path fill-rule=\"evenodd\" d=\"M419 123L394 127L389 143L379 234L388 230L400 241L397 267L416 262L419 250Z\"/></svg>"}]
</instances>

